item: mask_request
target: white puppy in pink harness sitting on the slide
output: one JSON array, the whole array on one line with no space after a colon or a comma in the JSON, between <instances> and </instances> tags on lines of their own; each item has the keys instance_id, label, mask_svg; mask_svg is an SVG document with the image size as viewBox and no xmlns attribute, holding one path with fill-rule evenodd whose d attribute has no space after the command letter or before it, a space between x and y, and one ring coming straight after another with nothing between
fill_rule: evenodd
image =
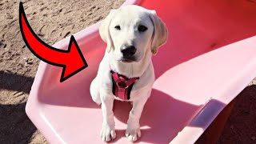
<instances>
[{"instance_id":1,"label":"white puppy in pink harness sitting on the slide","mask_svg":"<svg viewBox=\"0 0 256 144\"><path fill-rule=\"evenodd\" d=\"M133 104L126 137L134 142L141 137L139 119L154 83L151 57L166 42L167 29L154 10L146 10L141 6L123 6L110 11L102 22L99 33L107 47L97 77L90 85L90 94L94 102L102 104L101 138L108 142L116 137L112 109L114 99L118 99ZM121 78L124 76L133 79L133 82L127 84L131 86L123 86L123 82L115 81L114 73L117 79L121 74L122 81L127 80ZM114 89L119 91L115 93Z\"/></svg>"}]
</instances>

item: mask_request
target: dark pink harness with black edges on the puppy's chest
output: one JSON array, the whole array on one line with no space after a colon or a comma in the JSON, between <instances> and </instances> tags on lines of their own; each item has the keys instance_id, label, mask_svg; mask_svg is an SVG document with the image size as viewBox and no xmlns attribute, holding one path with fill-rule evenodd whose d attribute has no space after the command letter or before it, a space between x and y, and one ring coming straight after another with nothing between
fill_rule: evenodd
<instances>
[{"instance_id":1,"label":"dark pink harness with black edges on the puppy's chest","mask_svg":"<svg viewBox=\"0 0 256 144\"><path fill-rule=\"evenodd\" d=\"M113 82L113 94L121 98L122 100L130 99L130 91L134 86L134 82L138 78L126 78L126 76L122 74L118 74L113 70L110 71L112 74L112 82Z\"/></svg>"}]
</instances>

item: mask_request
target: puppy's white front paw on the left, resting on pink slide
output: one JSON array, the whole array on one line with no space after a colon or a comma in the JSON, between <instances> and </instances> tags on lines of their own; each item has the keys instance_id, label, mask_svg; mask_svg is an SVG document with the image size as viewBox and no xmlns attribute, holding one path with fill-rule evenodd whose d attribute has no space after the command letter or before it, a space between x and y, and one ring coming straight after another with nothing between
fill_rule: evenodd
<instances>
[{"instance_id":1,"label":"puppy's white front paw on the left, resting on pink slide","mask_svg":"<svg viewBox=\"0 0 256 144\"><path fill-rule=\"evenodd\" d=\"M113 140L116 137L114 128L111 128L110 126L102 126L101 130L101 138L104 142L109 142L110 140Z\"/></svg>"}]
</instances>

